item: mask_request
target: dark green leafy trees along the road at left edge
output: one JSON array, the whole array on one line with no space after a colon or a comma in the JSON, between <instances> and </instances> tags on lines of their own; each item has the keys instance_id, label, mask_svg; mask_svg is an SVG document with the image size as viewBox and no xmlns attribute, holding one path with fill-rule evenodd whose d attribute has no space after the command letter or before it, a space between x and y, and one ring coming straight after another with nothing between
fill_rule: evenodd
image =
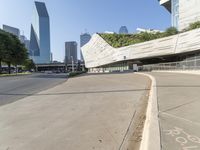
<instances>
[{"instance_id":1,"label":"dark green leafy trees along the road at left edge","mask_svg":"<svg viewBox=\"0 0 200 150\"><path fill-rule=\"evenodd\" d=\"M28 51L25 45L13 34L0 29L0 74L2 73L2 62L8 65L11 73L11 65L30 65L33 63L28 59Z\"/></svg>"}]
</instances>

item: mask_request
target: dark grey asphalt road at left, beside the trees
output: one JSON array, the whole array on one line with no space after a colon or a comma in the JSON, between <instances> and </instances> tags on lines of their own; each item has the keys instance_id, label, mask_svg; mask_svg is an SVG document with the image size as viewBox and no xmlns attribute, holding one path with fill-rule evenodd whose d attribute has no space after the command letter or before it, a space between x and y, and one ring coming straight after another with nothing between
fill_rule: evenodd
<instances>
[{"instance_id":1,"label":"dark grey asphalt road at left, beside the trees","mask_svg":"<svg viewBox=\"0 0 200 150\"><path fill-rule=\"evenodd\" d=\"M66 80L66 74L0 77L0 106L49 89Z\"/></svg>"}]
</instances>

